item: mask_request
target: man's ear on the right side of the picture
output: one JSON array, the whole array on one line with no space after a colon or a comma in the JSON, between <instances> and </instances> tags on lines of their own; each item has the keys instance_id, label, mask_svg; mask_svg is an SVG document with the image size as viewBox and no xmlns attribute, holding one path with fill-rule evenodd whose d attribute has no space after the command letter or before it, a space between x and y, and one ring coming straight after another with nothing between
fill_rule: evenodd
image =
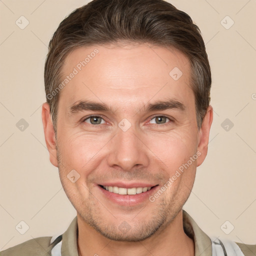
<instances>
[{"instance_id":1,"label":"man's ear on the right side of the picture","mask_svg":"<svg viewBox=\"0 0 256 256\"><path fill-rule=\"evenodd\" d=\"M210 126L213 118L213 109L212 106L208 106L206 114L202 120L201 128L198 131L198 144L197 150L201 153L197 158L197 166L201 165L204 161L207 151L208 151L208 142L209 142L209 132Z\"/></svg>"}]
</instances>

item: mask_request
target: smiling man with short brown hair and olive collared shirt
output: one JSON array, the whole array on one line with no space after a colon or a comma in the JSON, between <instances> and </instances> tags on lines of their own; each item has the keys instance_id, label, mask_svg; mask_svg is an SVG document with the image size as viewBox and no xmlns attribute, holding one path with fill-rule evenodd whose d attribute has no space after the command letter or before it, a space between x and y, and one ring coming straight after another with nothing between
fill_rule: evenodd
<instances>
[{"instance_id":1,"label":"smiling man with short brown hair and olive collared shirt","mask_svg":"<svg viewBox=\"0 0 256 256\"><path fill-rule=\"evenodd\" d=\"M207 54L186 13L93 0L60 23L44 78L45 141L77 217L1 255L256 255L182 210L212 122Z\"/></svg>"}]
</instances>

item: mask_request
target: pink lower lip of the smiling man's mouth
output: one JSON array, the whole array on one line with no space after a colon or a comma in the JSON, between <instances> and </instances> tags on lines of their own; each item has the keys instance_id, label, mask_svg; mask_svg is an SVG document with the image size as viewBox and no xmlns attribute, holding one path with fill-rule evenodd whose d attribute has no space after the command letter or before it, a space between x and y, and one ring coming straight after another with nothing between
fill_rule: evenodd
<instances>
[{"instance_id":1,"label":"pink lower lip of the smiling man's mouth","mask_svg":"<svg viewBox=\"0 0 256 256\"><path fill-rule=\"evenodd\" d=\"M139 194L116 194L113 192L109 192L108 190L102 188L99 185L97 185L97 187L110 201L123 206L133 206L142 203L146 200L149 201L149 196L154 193L158 185L152 187L150 190L147 190L146 192L142 192Z\"/></svg>"}]
</instances>

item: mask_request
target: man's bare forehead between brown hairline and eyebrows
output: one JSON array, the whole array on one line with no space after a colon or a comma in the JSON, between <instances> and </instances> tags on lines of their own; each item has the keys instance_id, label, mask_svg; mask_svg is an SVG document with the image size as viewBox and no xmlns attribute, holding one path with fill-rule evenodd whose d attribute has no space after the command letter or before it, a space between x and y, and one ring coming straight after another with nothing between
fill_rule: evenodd
<instances>
[{"instance_id":1,"label":"man's bare forehead between brown hairline and eyebrows","mask_svg":"<svg viewBox=\"0 0 256 256\"><path fill-rule=\"evenodd\" d=\"M67 55L61 73L59 101L69 105L88 99L128 107L166 96L194 103L188 58L174 49L145 44L80 47Z\"/></svg>"}]
</instances>

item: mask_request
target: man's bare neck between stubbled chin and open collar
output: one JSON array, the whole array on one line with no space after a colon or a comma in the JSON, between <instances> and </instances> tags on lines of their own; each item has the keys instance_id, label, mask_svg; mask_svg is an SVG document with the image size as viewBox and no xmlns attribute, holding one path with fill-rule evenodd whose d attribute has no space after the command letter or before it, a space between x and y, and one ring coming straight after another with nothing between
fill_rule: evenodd
<instances>
[{"instance_id":1,"label":"man's bare neck between stubbled chin and open collar","mask_svg":"<svg viewBox=\"0 0 256 256\"><path fill-rule=\"evenodd\" d=\"M183 255L194 256L194 243L184 230L182 210L166 226L142 241L127 242L110 240L89 226L77 214L79 256L88 255Z\"/></svg>"}]
</instances>

